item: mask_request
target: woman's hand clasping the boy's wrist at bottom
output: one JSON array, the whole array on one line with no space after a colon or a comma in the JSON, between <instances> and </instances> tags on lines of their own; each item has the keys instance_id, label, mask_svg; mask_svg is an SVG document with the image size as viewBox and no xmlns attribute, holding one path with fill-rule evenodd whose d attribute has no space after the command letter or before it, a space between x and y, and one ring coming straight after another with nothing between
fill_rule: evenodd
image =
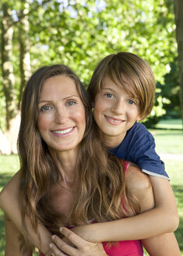
<instances>
[{"instance_id":1,"label":"woman's hand clasping the boy's wrist at bottom","mask_svg":"<svg viewBox=\"0 0 183 256\"><path fill-rule=\"evenodd\" d=\"M65 241L54 235L52 236L53 243L50 244L50 247L55 256L107 256L102 244L89 243L65 227L62 228L61 233L75 247L66 244Z\"/></svg>"}]
</instances>

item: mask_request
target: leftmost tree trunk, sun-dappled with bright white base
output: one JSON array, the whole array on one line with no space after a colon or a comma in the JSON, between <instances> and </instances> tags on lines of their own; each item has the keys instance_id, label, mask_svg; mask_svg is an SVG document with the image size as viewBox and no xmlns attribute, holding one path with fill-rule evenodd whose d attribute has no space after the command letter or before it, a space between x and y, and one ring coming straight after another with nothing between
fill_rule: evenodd
<instances>
[{"instance_id":1,"label":"leftmost tree trunk, sun-dappled with bright white base","mask_svg":"<svg viewBox=\"0 0 183 256\"><path fill-rule=\"evenodd\" d=\"M16 153L17 126L19 114L16 105L15 77L12 66L12 12L6 2L2 3L2 84L5 94L6 131L0 131L0 152L2 154ZM18 116L17 116L18 115Z\"/></svg>"}]
</instances>

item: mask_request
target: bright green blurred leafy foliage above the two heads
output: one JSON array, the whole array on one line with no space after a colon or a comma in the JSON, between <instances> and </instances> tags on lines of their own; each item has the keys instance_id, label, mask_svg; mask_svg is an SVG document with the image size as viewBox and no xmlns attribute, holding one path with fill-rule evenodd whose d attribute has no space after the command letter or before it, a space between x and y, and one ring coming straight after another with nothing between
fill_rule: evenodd
<instances>
[{"instance_id":1,"label":"bright green blurred leafy foliage above the two heads","mask_svg":"<svg viewBox=\"0 0 183 256\"><path fill-rule=\"evenodd\" d=\"M12 63L19 99L18 32L23 2L3 1L8 3L15 20ZM171 0L33 0L27 15L32 71L43 65L62 62L74 69L87 86L100 59L113 52L128 51L146 59L157 82L164 84L167 65L177 57ZM0 91L1 87L2 84ZM163 108L167 107L163 104L166 97L160 97L157 92L156 104L148 121L150 124L157 123L164 115Z\"/></svg>"}]
</instances>

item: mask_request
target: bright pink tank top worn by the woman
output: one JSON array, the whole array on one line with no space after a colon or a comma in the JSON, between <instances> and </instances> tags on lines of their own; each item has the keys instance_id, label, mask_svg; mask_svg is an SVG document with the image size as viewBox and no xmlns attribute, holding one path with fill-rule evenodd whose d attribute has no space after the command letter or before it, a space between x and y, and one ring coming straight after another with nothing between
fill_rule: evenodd
<instances>
[{"instance_id":1,"label":"bright pink tank top worn by the woman","mask_svg":"<svg viewBox=\"0 0 183 256\"><path fill-rule=\"evenodd\" d=\"M121 161L124 172L127 171L128 162ZM70 226L69 228L72 228ZM143 246L140 240L127 240L127 241L119 241L117 245L107 247L107 243L102 243L104 247L104 251L109 256L143 256ZM40 256L44 256L44 254L40 253Z\"/></svg>"}]
</instances>

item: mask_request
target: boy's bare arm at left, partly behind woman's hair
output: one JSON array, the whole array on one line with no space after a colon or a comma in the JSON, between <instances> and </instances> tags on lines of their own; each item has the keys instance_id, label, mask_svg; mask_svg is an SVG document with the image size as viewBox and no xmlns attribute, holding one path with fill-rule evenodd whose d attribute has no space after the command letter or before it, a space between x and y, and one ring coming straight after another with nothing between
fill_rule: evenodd
<instances>
[{"instance_id":1,"label":"boy's bare arm at left, partly behind woman's hair","mask_svg":"<svg viewBox=\"0 0 183 256\"><path fill-rule=\"evenodd\" d=\"M0 193L0 208L2 208L2 211L9 216L9 219L16 226L16 229L22 233L23 226L19 204L19 172L16 172ZM26 218L26 226L32 244L44 254L48 253L50 250L49 244L51 242L51 233L48 229L38 223L37 230L40 233L39 240L37 233L33 231L28 218Z\"/></svg>"}]
</instances>

